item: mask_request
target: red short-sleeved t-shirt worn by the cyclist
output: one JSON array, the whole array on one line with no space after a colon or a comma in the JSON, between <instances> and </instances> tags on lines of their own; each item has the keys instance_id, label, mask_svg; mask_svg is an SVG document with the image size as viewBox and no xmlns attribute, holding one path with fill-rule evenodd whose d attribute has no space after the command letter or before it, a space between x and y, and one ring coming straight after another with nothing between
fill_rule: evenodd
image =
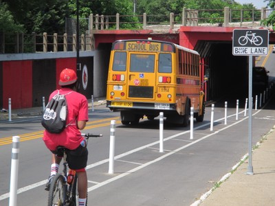
<instances>
[{"instance_id":1,"label":"red short-sleeved t-shirt worn by the cyclist","mask_svg":"<svg viewBox=\"0 0 275 206\"><path fill-rule=\"evenodd\" d=\"M51 100L58 90L50 95ZM72 89L62 88L60 94L67 94L67 127L59 134L53 134L44 131L43 141L49 150L56 150L57 146L65 146L69 150L78 148L80 142L83 141L80 130L76 126L77 121L88 121L88 101L85 95L82 95Z\"/></svg>"}]
</instances>

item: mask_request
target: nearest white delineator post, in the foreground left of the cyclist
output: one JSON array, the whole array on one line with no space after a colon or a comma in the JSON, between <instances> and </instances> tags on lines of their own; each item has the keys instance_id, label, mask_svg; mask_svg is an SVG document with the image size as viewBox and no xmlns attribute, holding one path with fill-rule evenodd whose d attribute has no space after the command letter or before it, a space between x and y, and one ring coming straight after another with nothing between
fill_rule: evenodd
<instances>
[{"instance_id":1,"label":"nearest white delineator post, in the foreground left of the cyclist","mask_svg":"<svg viewBox=\"0 0 275 206\"><path fill-rule=\"evenodd\" d=\"M17 184L19 169L19 136L12 137L12 164L10 168L10 206L17 206Z\"/></svg>"}]
</instances>

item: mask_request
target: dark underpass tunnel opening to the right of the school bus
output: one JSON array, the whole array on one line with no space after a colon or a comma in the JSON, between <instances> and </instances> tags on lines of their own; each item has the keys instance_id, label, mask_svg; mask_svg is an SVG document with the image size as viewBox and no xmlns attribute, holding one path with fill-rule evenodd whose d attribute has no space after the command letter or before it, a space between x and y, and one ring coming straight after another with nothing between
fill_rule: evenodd
<instances>
[{"instance_id":1,"label":"dark underpass tunnel opening to the right of the school bus","mask_svg":"<svg viewBox=\"0 0 275 206\"><path fill-rule=\"evenodd\" d=\"M237 99L247 98L248 57L233 56L232 42L198 41L194 49L203 58L203 73L209 74L206 101L225 100L236 106Z\"/></svg>"}]
</instances>

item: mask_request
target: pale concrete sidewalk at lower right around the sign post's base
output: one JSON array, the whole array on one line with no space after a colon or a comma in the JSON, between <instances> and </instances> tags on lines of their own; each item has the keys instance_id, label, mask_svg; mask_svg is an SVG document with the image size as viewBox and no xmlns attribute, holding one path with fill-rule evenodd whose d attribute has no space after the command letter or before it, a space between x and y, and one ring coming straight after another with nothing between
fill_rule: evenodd
<instances>
[{"instance_id":1,"label":"pale concrete sidewalk at lower right around the sign post's base","mask_svg":"<svg viewBox=\"0 0 275 206\"><path fill-rule=\"evenodd\" d=\"M192 206L275 205L275 126L252 153L253 175L248 159L214 191L201 196ZM202 203L201 203L202 202Z\"/></svg>"}]
</instances>

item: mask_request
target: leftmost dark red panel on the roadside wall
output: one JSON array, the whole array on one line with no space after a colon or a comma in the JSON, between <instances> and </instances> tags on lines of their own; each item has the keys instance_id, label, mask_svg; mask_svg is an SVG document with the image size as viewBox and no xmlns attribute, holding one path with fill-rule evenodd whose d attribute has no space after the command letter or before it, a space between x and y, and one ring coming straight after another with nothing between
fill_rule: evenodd
<instances>
[{"instance_id":1,"label":"leftmost dark red panel on the roadside wall","mask_svg":"<svg viewBox=\"0 0 275 206\"><path fill-rule=\"evenodd\" d=\"M32 107L32 60L3 62L3 107Z\"/></svg>"}]
</instances>

